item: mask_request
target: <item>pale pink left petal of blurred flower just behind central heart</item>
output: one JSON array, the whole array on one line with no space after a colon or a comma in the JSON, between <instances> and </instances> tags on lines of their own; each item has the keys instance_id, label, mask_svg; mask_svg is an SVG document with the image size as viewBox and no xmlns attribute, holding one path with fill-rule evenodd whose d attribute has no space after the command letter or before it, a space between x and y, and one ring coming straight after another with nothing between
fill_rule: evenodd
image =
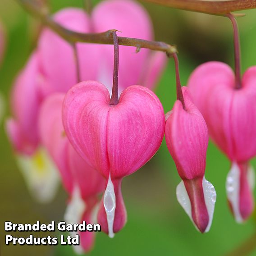
<instances>
[{"instance_id":1,"label":"pale pink left petal of blurred flower just behind central heart","mask_svg":"<svg viewBox=\"0 0 256 256\"><path fill-rule=\"evenodd\" d=\"M46 98L39 113L39 133L43 146L49 151L57 165L65 189L73 191L73 177L69 168L69 141L62 124L62 102L64 94L53 94Z\"/></svg>"}]
</instances>

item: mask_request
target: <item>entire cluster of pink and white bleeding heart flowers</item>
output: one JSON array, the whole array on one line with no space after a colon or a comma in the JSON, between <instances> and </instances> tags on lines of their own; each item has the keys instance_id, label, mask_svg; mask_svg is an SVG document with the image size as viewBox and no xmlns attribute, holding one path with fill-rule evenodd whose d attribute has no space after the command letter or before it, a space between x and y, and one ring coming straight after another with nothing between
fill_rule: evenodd
<instances>
[{"instance_id":1,"label":"entire cluster of pink and white bleeding heart flowers","mask_svg":"<svg viewBox=\"0 0 256 256\"><path fill-rule=\"evenodd\" d=\"M148 14L132 0L102 1L90 16L64 9L54 19L76 32L119 29L123 36L153 39ZM133 48L119 46L114 30L113 40L114 64L113 46L72 46L45 28L14 82L6 131L32 194L49 201L60 177L69 195L66 222L98 222L113 238L127 221L123 178L155 155L165 135L182 179L178 202L195 227L208 232L216 202L215 188L205 178L210 134L232 162L226 188L233 215L238 222L247 219L254 209L249 160L256 155L256 68L240 81L238 69L235 77L226 64L202 64L188 87L181 87L174 54L177 101L164 114L151 90L165 55L146 49L135 55ZM89 251L94 235L80 235L81 245L74 249Z\"/></svg>"}]
</instances>

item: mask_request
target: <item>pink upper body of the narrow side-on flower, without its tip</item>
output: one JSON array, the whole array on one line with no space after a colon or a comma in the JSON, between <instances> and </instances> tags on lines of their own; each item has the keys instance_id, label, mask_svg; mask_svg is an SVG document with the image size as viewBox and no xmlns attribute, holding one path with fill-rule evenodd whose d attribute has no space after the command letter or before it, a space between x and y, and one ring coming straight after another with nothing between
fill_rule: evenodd
<instances>
[{"instance_id":1,"label":"pink upper body of the narrow side-on flower, without its tip","mask_svg":"<svg viewBox=\"0 0 256 256\"><path fill-rule=\"evenodd\" d=\"M165 124L166 144L182 179L203 177L206 167L208 129L200 111L192 103L187 87L182 87L186 110L180 101Z\"/></svg>"}]
</instances>

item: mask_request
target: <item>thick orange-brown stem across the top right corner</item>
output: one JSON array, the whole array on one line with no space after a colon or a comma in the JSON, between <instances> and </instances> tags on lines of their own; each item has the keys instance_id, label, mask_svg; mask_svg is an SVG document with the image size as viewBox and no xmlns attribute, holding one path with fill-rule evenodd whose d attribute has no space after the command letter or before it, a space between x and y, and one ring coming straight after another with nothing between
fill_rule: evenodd
<instances>
[{"instance_id":1,"label":"thick orange-brown stem across the top right corner","mask_svg":"<svg viewBox=\"0 0 256 256\"><path fill-rule=\"evenodd\" d=\"M256 0L228 0L228 1L202 1L202 0L144 0L176 9L194 11L206 14L224 15L234 11L256 8Z\"/></svg>"}]
</instances>

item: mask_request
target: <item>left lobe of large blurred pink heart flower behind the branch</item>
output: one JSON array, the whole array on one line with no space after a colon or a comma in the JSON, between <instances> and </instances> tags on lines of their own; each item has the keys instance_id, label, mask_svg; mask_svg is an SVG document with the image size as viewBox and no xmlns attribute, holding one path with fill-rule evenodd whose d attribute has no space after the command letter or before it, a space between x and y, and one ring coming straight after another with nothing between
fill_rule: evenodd
<instances>
[{"instance_id":1,"label":"left lobe of large blurred pink heart flower behind the branch","mask_svg":"<svg viewBox=\"0 0 256 256\"><path fill-rule=\"evenodd\" d=\"M92 32L90 19L82 9L63 9L55 14L54 19L73 31ZM91 44L77 44L82 80L96 78L99 53L95 47ZM78 82L74 51L69 43L46 28L39 39L38 48L42 72L50 81L52 91L66 92Z\"/></svg>"}]
</instances>

